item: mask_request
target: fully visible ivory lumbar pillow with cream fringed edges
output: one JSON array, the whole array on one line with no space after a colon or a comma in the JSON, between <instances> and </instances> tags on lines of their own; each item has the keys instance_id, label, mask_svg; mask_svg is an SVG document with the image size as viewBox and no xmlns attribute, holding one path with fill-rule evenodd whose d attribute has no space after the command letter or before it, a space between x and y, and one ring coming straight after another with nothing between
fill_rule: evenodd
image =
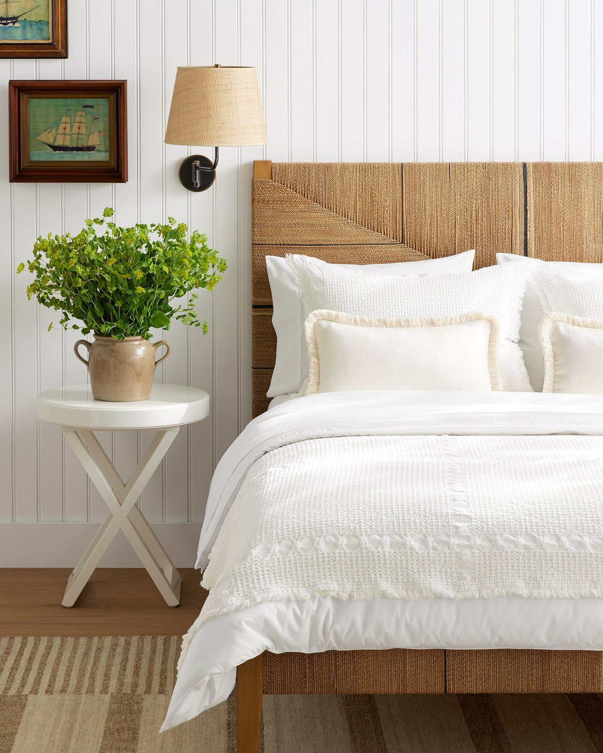
<instances>
[{"instance_id":1,"label":"fully visible ivory lumbar pillow with cream fringed edges","mask_svg":"<svg viewBox=\"0 0 603 753\"><path fill-rule=\"evenodd\" d=\"M383 319L314 311L305 322L308 388L500 390L498 326L492 316Z\"/></svg>"}]
</instances>

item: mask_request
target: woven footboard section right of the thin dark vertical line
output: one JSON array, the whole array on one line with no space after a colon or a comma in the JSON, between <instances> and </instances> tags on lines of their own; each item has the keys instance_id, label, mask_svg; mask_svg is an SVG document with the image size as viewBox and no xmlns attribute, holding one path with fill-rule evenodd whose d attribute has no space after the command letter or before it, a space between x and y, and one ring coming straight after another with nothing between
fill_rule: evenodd
<instances>
[{"instance_id":1,"label":"woven footboard section right of the thin dark vertical line","mask_svg":"<svg viewBox=\"0 0 603 753\"><path fill-rule=\"evenodd\" d=\"M446 651L448 693L601 693L603 652Z\"/></svg>"}]
</instances>

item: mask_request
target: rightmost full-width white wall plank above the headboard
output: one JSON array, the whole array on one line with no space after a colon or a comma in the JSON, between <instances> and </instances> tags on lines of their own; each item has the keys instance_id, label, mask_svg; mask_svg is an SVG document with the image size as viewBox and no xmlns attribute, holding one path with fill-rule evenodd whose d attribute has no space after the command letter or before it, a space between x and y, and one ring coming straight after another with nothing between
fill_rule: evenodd
<instances>
[{"instance_id":1,"label":"rightmost full-width white wall plank above the headboard","mask_svg":"<svg viewBox=\"0 0 603 753\"><path fill-rule=\"evenodd\" d=\"M568 160L590 160L590 0L568 0Z\"/></svg>"}]
</instances>

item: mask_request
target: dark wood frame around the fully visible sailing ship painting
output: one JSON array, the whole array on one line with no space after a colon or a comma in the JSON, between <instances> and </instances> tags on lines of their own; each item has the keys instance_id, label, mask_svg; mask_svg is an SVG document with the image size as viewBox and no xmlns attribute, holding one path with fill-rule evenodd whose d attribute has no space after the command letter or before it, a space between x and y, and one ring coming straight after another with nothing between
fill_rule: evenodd
<instances>
[{"instance_id":1,"label":"dark wood frame around the fully visible sailing ship painting","mask_svg":"<svg viewBox=\"0 0 603 753\"><path fill-rule=\"evenodd\" d=\"M108 99L109 159L52 162L30 159L32 99ZM126 81L9 81L8 163L11 183L125 183L127 181Z\"/></svg>"}]
</instances>

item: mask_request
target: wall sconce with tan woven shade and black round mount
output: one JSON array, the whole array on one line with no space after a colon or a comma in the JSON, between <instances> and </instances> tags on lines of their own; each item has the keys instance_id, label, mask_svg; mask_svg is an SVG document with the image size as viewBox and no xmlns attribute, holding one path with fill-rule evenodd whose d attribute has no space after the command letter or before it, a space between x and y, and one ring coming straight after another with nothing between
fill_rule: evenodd
<instances>
[{"instance_id":1,"label":"wall sconce with tan woven shade and black round mount","mask_svg":"<svg viewBox=\"0 0 603 753\"><path fill-rule=\"evenodd\" d=\"M179 66L164 141L213 146L213 162L194 154L182 161L179 170L188 191L206 191L216 178L219 147L259 146L268 141L256 69Z\"/></svg>"}]
</instances>

